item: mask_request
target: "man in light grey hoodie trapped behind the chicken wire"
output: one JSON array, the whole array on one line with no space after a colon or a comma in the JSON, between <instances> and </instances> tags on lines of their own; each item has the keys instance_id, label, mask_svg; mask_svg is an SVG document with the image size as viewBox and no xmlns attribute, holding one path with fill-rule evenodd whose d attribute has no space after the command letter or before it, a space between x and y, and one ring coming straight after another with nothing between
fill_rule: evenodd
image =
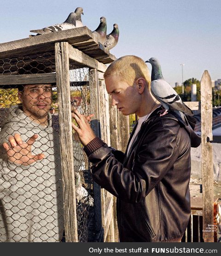
<instances>
[{"instance_id":1,"label":"man in light grey hoodie trapped behind the chicken wire","mask_svg":"<svg viewBox=\"0 0 221 256\"><path fill-rule=\"evenodd\" d=\"M59 242L64 217L52 84L20 86L18 97L0 132L0 242ZM82 151L73 143L79 170Z\"/></svg>"}]
</instances>

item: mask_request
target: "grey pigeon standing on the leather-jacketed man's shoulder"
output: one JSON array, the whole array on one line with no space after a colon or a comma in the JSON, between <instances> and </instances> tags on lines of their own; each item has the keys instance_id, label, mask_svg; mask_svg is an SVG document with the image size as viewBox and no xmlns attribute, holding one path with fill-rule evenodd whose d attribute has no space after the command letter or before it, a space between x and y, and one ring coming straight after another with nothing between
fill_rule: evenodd
<instances>
[{"instance_id":1,"label":"grey pigeon standing on the leather-jacketed man's shoulder","mask_svg":"<svg viewBox=\"0 0 221 256\"><path fill-rule=\"evenodd\" d=\"M157 58L150 58L145 61L151 64L151 93L163 105L165 111L161 113L163 116L169 109L186 113L193 116L192 110L188 108L180 99L177 92L164 80L161 66ZM181 114L181 113L180 113ZM183 118L183 115L181 115Z\"/></svg>"}]
</instances>

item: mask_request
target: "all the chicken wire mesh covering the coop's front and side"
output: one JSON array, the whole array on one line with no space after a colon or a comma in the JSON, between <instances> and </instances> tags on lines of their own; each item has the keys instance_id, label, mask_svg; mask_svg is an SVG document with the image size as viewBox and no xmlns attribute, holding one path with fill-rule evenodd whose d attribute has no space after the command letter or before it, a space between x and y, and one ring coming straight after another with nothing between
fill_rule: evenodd
<instances>
[{"instance_id":1,"label":"all the chicken wire mesh covering the coop's front and side","mask_svg":"<svg viewBox=\"0 0 221 256\"><path fill-rule=\"evenodd\" d=\"M0 59L3 76L54 71L53 53ZM70 94L71 107L87 115L88 69L70 64ZM58 107L55 84L0 88L0 242L65 241ZM78 240L87 242L93 183L76 134L73 155Z\"/></svg>"}]
</instances>

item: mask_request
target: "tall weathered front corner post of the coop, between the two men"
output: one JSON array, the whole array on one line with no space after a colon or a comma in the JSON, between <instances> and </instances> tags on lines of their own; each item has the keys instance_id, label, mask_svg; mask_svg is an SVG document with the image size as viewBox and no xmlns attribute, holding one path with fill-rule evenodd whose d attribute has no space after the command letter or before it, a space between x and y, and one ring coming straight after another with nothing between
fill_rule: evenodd
<instances>
[{"instance_id":1,"label":"tall weathered front corner post of the coop, between the two men","mask_svg":"<svg viewBox=\"0 0 221 256\"><path fill-rule=\"evenodd\" d=\"M70 109L69 44L67 42L55 43L55 62L59 106L65 240L66 242L77 242L75 174Z\"/></svg>"}]
</instances>

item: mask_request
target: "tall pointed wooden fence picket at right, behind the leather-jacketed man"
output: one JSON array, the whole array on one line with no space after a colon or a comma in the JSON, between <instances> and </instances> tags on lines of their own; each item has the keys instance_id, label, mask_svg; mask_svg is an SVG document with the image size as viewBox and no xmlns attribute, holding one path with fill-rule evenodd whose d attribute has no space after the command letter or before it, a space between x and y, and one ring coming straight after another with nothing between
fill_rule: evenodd
<instances>
[{"instance_id":1,"label":"tall pointed wooden fence picket at right, behind the leather-jacketed man","mask_svg":"<svg viewBox=\"0 0 221 256\"><path fill-rule=\"evenodd\" d=\"M202 136L202 184L203 184L203 239L214 242L214 233L206 232L213 225L213 148L212 135L212 82L207 70L201 79L201 136ZM212 227L212 226L211 226Z\"/></svg>"}]
</instances>

